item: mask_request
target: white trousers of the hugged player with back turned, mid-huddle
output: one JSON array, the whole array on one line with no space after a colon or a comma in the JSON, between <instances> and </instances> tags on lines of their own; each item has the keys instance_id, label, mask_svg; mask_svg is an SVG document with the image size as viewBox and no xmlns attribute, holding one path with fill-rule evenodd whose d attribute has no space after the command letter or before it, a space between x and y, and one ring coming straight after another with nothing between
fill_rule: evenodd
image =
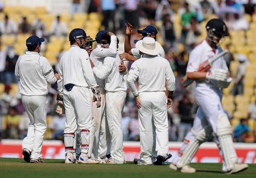
<instances>
[{"instance_id":1,"label":"white trousers of the hugged player with back turned, mid-huddle","mask_svg":"<svg viewBox=\"0 0 256 178\"><path fill-rule=\"evenodd\" d=\"M111 156L117 161L124 161L122 113L126 92L106 92L106 119L111 135Z\"/></svg>"}]
</instances>

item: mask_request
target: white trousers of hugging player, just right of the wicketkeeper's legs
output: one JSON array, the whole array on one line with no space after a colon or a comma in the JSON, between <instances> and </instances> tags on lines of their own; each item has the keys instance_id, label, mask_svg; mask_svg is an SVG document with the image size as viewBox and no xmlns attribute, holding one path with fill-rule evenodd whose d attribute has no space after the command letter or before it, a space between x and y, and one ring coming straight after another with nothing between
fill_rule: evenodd
<instances>
[{"instance_id":1,"label":"white trousers of hugging player, just right of the wicketkeeper's legs","mask_svg":"<svg viewBox=\"0 0 256 178\"><path fill-rule=\"evenodd\" d=\"M106 121L106 102L105 102L104 88L100 87L101 106L96 107L96 102L93 103L93 127L94 131L94 144L92 155L94 158L104 158L106 154L110 154L110 130L108 122Z\"/></svg>"}]
</instances>

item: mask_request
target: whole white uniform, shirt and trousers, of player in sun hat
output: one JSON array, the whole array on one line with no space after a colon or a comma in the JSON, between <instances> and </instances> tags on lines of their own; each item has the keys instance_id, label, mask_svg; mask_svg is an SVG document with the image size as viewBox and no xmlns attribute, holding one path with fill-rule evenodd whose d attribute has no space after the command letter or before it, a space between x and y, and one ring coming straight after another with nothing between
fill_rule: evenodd
<instances>
[{"instance_id":1,"label":"whole white uniform, shirt and trousers, of player in sun hat","mask_svg":"<svg viewBox=\"0 0 256 178\"><path fill-rule=\"evenodd\" d=\"M135 81L139 78L139 90ZM175 76L168 60L160 56L144 54L136 60L129 71L127 81L134 96L139 95L141 108L139 113L140 158L146 164L152 164L154 151L153 130L156 129L156 151L165 157L168 152L167 99L165 79L168 91L175 90ZM155 125L155 127L154 127Z\"/></svg>"}]
</instances>

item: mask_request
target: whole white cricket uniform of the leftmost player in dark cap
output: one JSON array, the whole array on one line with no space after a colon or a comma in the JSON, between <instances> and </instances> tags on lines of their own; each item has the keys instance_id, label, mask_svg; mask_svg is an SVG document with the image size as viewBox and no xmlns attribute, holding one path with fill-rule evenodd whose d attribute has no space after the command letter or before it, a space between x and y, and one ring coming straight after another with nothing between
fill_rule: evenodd
<instances>
[{"instance_id":1,"label":"whole white cricket uniform of the leftmost player in dark cap","mask_svg":"<svg viewBox=\"0 0 256 178\"><path fill-rule=\"evenodd\" d=\"M29 51L19 56L15 75L20 81L19 93L22 94L22 102L30 119L28 134L22 147L32 151L31 158L38 160L47 128L47 82L52 84L57 79L47 58Z\"/></svg>"}]
</instances>

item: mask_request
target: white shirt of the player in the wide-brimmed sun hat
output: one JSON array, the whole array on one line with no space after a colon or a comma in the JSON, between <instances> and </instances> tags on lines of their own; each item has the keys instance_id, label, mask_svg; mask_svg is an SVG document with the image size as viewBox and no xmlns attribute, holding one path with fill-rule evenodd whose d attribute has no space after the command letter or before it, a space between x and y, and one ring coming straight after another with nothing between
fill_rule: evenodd
<instances>
[{"instance_id":1,"label":"white shirt of the player in the wide-brimmed sun hat","mask_svg":"<svg viewBox=\"0 0 256 178\"><path fill-rule=\"evenodd\" d=\"M139 90L135 81L139 77ZM141 92L164 92L165 79L167 90L175 90L175 76L167 59L160 56L144 54L142 58L133 62L127 82L134 96Z\"/></svg>"}]
</instances>

